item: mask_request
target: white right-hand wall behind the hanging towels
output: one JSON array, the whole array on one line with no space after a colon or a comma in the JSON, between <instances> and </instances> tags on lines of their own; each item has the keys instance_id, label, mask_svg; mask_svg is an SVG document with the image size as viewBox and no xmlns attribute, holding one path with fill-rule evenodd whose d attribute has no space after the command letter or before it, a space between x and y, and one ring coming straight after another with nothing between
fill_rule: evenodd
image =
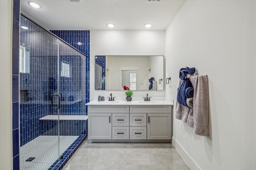
<instances>
[{"instance_id":1,"label":"white right-hand wall behind the hanging towels","mask_svg":"<svg viewBox=\"0 0 256 170\"><path fill-rule=\"evenodd\" d=\"M174 119L173 143L192 170L256 169L256 1L188 0L166 30L166 77L208 75L210 137ZM175 117L175 115L174 115Z\"/></svg>"}]
</instances>

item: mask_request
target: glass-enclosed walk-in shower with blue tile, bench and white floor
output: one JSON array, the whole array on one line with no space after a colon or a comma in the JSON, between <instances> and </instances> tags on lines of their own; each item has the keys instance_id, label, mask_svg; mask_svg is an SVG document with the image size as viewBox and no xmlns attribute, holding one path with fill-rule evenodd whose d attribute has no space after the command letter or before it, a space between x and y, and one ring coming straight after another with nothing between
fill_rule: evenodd
<instances>
[{"instance_id":1,"label":"glass-enclosed walk-in shower with blue tile, bench and white floor","mask_svg":"<svg viewBox=\"0 0 256 170\"><path fill-rule=\"evenodd\" d=\"M86 137L87 57L20 18L20 169L58 166Z\"/></svg>"}]
</instances>

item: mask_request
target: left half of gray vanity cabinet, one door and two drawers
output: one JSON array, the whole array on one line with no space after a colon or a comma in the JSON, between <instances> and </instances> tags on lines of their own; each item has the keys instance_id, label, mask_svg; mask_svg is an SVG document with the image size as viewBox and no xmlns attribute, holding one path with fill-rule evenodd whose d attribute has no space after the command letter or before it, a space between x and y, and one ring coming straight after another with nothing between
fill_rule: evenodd
<instances>
[{"instance_id":1,"label":"left half of gray vanity cabinet, one door and two drawers","mask_svg":"<svg viewBox=\"0 0 256 170\"><path fill-rule=\"evenodd\" d=\"M121 126L129 126L129 106L88 106L88 139L129 139Z\"/></svg>"}]
</instances>

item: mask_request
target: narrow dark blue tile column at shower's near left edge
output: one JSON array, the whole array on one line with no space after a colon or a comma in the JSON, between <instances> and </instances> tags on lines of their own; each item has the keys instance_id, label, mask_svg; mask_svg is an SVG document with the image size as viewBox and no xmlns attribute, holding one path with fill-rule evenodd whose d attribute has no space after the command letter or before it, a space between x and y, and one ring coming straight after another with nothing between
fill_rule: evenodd
<instances>
[{"instance_id":1,"label":"narrow dark blue tile column at shower's near left edge","mask_svg":"<svg viewBox=\"0 0 256 170\"><path fill-rule=\"evenodd\" d=\"M12 159L13 170L20 169L19 147L19 41L20 41L20 0L13 1L12 23Z\"/></svg>"}]
</instances>

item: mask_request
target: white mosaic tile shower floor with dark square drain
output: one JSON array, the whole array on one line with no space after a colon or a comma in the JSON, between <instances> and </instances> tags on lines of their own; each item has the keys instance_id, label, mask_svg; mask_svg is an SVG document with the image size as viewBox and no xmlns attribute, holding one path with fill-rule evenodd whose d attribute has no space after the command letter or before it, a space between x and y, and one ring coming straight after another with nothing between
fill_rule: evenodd
<instances>
[{"instance_id":1,"label":"white mosaic tile shower floor with dark square drain","mask_svg":"<svg viewBox=\"0 0 256 170\"><path fill-rule=\"evenodd\" d=\"M63 153L78 136L60 136L60 153ZM26 161L34 157L31 162ZM58 158L58 136L39 136L20 147L21 170L48 170Z\"/></svg>"}]
</instances>

